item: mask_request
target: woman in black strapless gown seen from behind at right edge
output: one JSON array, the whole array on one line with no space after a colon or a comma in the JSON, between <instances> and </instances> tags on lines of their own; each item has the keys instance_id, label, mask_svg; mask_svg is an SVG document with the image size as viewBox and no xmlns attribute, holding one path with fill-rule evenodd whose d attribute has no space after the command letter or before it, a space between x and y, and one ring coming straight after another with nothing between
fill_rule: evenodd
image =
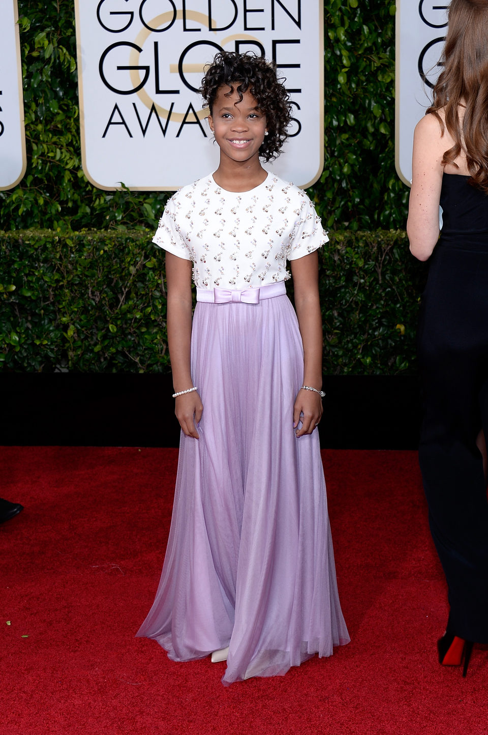
<instances>
[{"instance_id":1,"label":"woman in black strapless gown seen from behind at right edge","mask_svg":"<svg viewBox=\"0 0 488 735\"><path fill-rule=\"evenodd\" d=\"M415 257L432 256L419 329L419 456L451 606L439 662L459 665L464 654L466 675L473 642L488 643L487 484L477 446L488 431L488 0L451 1L442 61L415 129L407 231Z\"/></svg>"}]
</instances>

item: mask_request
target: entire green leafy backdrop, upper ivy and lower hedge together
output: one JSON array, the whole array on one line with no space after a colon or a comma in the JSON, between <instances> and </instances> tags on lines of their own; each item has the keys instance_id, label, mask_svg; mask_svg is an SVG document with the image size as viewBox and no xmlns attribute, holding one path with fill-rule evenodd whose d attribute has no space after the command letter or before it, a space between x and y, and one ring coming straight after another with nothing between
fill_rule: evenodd
<instances>
[{"instance_id":1,"label":"entire green leafy backdrop, upper ivy and lower hedge together","mask_svg":"<svg viewBox=\"0 0 488 735\"><path fill-rule=\"evenodd\" d=\"M18 7L28 162L0 192L0 370L168 370L150 244L168 193L87 182L73 2ZM326 163L309 190L335 231L320 258L324 372L409 373L425 269L408 254L395 173L395 5L327 0L324 11Z\"/></svg>"}]
</instances>

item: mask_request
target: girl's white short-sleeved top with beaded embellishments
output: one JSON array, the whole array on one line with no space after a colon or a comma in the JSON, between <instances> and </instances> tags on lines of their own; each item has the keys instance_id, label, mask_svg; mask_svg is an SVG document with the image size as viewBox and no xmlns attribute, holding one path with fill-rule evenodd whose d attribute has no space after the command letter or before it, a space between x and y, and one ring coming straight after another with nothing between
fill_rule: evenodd
<instances>
[{"instance_id":1,"label":"girl's white short-sleeved top with beaded embellishments","mask_svg":"<svg viewBox=\"0 0 488 735\"><path fill-rule=\"evenodd\" d=\"M198 288L259 288L290 278L294 260L328 242L303 190L268 173L249 191L222 189L212 176L168 200L153 243L193 261Z\"/></svg>"}]
</instances>

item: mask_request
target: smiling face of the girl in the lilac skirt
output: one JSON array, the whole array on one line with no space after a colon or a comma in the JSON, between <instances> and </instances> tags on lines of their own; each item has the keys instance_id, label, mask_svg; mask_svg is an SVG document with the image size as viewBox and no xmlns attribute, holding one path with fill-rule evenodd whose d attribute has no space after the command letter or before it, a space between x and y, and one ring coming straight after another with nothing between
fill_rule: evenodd
<instances>
[{"instance_id":1,"label":"smiling face of the girl in the lilac skirt","mask_svg":"<svg viewBox=\"0 0 488 735\"><path fill-rule=\"evenodd\" d=\"M210 129L220 148L220 161L259 163L259 148L265 137L266 118L257 107L256 100L247 91L242 100L237 93L239 82L233 87L220 87L209 115ZM232 90L227 96L226 93Z\"/></svg>"}]
</instances>

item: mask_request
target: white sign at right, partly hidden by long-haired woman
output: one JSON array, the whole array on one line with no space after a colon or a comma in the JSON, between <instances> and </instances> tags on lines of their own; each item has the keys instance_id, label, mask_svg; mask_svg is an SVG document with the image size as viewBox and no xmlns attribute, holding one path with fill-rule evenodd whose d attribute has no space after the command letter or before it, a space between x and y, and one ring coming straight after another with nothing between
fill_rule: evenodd
<instances>
[{"instance_id":1,"label":"white sign at right, partly hidden by long-haired woman","mask_svg":"<svg viewBox=\"0 0 488 735\"><path fill-rule=\"evenodd\" d=\"M406 184L412 180L414 129L431 104L439 75L450 0L397 0L395 165ZM424 82L422 74L426 75Z\"/></svg>"}]
</instances>

